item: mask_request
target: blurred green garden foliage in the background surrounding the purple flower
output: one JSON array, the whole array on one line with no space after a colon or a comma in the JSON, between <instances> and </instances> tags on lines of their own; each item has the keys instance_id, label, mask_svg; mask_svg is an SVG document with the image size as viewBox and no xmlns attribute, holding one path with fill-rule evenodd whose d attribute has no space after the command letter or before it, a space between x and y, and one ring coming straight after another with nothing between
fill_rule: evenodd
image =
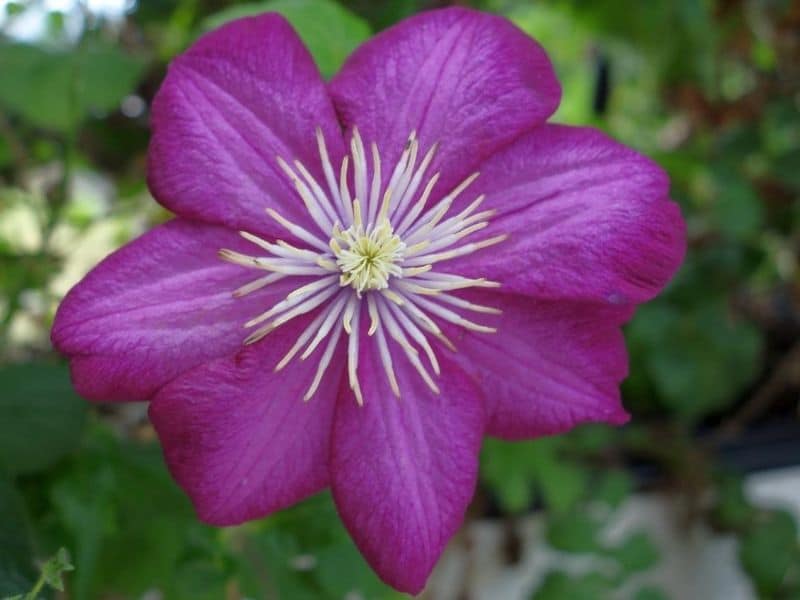
<instances>
[{"instance_id":1,"label":"blurred green garden foliage in the background surrounding the purple flower","mask_svg":"<svg viewBox=\"0 0 800 600\"><path fill-rule=\"evenodd\" d=\"M148 103L171 57L229 19L276 10L330 77L374 31L443 4L140 0L109 16L0 2L0 598L50 597L69 565L62 547L78 600L398 596L327 495L241 527L200 524L142 410L89 408L48 330L72 283L168 218L147 194L144 157ZM541 546L588 561L548 571L534 598L669 598L640 577L663 556L657 540L608 531L655 473L688 522L738 539L759 597L800 597L797 522L753 504L721 461L743 432L797 415L797 4L469 4L548 50L564 88L556 120L603 128L664 165L689 227L683 269L626 328L632 423L487 440L471 514L513 525L535 508Z\"/></svg>"}]
</instances>

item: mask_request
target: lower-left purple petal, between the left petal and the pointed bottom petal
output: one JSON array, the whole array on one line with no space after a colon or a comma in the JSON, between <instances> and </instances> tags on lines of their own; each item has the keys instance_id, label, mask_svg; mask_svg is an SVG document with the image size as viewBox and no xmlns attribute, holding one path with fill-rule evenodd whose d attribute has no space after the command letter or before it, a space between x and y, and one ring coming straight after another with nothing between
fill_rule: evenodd
<instances>
[{"instance_id":1,"label":"lower-left purple petal, between the left petal and the pointed bottom petal","mask_svg":"<svg viewBox=\"0 0 800 600\"><path fill-rule=\"evenodd\" d=\"M309 318L292 320L236 357L165 386L150 405L164 456L199 517L234 525L263 517L328 484L328 445L343 353L309 402L312 360L275 364Z\"/></svg>"}]
</instances>

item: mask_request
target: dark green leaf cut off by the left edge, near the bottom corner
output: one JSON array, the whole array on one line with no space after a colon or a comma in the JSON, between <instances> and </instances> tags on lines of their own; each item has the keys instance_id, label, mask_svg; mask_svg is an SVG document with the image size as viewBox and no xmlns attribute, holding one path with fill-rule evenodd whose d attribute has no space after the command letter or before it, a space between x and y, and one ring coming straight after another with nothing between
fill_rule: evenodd
<instances>
[{"instance_id":1,"label":"dark green leaf cut off by the left edge, near the bottom corner","mask_svg":"<svg viewBox=\"0 0 800 600\"><path fill-rule=\"evenodd\" d=\"M27 592L36 580L25 506L16 488L0 477L0 598Z\"/></svg>"}]
</instances>

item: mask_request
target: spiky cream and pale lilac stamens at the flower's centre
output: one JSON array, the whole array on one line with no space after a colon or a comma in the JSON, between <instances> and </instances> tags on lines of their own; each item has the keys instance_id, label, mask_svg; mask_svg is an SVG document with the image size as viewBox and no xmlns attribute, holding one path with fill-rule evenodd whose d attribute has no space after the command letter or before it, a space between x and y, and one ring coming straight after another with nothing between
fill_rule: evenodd
<instances>
[{"instance_id":1,"label":"spiky cream and pale lilac stamens at the flower's centre","mask_svg":"<svg viewBox=\"0 0 800 600\"><path fill-rule=\"evenodd\" d=\"M484 278L470 279L441 269L441 263L498 244L507 237L500 234L462 241L489 225L494 211L478 210L483 195L457 214L449 214L456 199L478 174L473 173L429 205L439 173L422 184L437 145L430 147L418 160L420 141L415 132L409 136L387 181L381 176L377 145L370 146L370 164L357 129L353 130L350 155L342 160L338 178L319 129L317 145L325 176L323 183L301 162L295 160L290 165L278 158L278 165L294 184L308 211L308 228L285 219L274 209L267 209L270 217L302 247L284 240L268 241L243 231L241 235L266 255L252 256L227 249L219 252L224 260L267 272L235 290L235 297L255 293L287 277L304 277L303 283L286 298L244 324L252 329L244 343L254 344L284 323L316 312L316 317L275 367L276 371L280 370L298 354L306 359L317 348L324 348L305 400L319 388L343 332L348 337L348 379L359 404L364 402L359 383L359 346L369 340L374 340L374 351L380 357L395 395L400 396L394 365L397 350L392 352L390 340L427 386L438 393L436 381L429 373L429 369L435 375L440 373L434 347L440 345L455 350L439 323L492 333L494 328L476 323L464 314L500 312L458 295L459 290L497 287L498 283ZM348 173L351 164L352 178ZM361 333L362 316L369 322L366 337ZM427 359L427 366L423 358Z\"/></svg>"}]
</instances>

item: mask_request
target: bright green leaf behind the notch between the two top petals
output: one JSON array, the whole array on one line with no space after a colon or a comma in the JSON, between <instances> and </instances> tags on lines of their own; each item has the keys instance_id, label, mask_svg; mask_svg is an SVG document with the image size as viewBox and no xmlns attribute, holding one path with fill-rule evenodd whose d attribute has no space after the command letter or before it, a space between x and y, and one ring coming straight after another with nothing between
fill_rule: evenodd
<instances>
[{"instance_id":1,"label":"bright green leaf behind the notch between the two top petals","mask_svg":"<svg viewBox=\"0 0 800 600\"><path fill-rule=\"evenodd\" d=\"M369 38L369 25L331 0L271 0L240 4L222 10L204 23L214 29L223 23L264 12L282 14L297 30L323 77L331 77L345 59Z\"/></svg>"}]
</instances>

